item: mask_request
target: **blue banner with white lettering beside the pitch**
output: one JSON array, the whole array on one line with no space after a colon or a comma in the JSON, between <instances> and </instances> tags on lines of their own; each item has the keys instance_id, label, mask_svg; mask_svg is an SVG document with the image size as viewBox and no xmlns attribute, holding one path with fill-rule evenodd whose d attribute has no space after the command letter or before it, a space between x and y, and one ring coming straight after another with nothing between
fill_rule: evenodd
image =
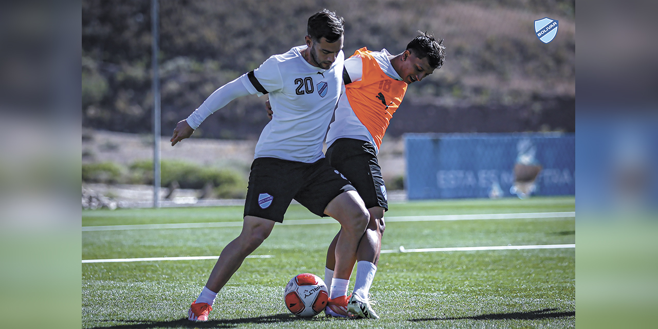
<instances>
[{"instance_id":1,"label":"blue banner with white lettering beside the pitch","mask_svg":"<svg viewBox=\"0 0 658 329\"><path fill-rule=\"evenodd\" d=\"M405 188L409 199L512 196L520 163L542 167L532 195L574 195L575 143L561 133L406 134Z\"/></svg>"}]
</instances>

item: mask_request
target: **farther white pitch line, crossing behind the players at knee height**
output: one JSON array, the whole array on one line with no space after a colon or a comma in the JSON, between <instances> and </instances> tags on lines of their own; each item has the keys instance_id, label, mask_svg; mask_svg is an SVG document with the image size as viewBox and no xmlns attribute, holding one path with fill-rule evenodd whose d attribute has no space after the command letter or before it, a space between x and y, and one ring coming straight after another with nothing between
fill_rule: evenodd
<instances>
[{"instance_id":1,"label":"farther white pitch line, crossing behind the players at knee height","mask_svg":"<svg viewBox=\"0 0 658 329\"><path fill-rule=\"evenodd\" d=\"M522 219L522 218L566 218L575 217L575 211L557 213L510 213L510 214L479 214L479 215L436 215L436 216L393 216L384 217L386 222L427 222L440 220L495 220L495 219ZM338 224L333 218L293 219L285 220L283 225L315 225ZM167 228L217 228L242 227L240 222L210 222L210 223L182 223L182 224L134 224L134 225L108 225L108 226L82 226L82 232L91 231L123 231L123 230L155 230Z\"/></svg>"}]
</instances>

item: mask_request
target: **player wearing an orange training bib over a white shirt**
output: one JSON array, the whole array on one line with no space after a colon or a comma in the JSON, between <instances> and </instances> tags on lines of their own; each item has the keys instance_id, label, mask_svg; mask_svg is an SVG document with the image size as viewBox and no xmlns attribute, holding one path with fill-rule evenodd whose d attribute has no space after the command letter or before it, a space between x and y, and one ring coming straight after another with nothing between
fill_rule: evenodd
<instances>
[{"instance_id":1,"label":"player wearing an orange training bib over a white shirt","mask_svg":"<svg viewBox=\"0 0 658 329\"><path fill-rule=\"evenodd\" d=\"M333 278L336 242L342 230L330 244L324 275L330 287L330 301L324 311L327 315L379 318L368 298L382 246L384 211L388 210L377 153L407 85L443 65L442 42L422 33L399 55L391 55L386 49L362 48L345 60L345 93L338 101L336 118L326 137L326 157L357 189L370 213L370 222L357 250L357 278L351 297L347 296L348 282ZM271 109L268 114L272 115Z\"/></svg>"}]
</instances>

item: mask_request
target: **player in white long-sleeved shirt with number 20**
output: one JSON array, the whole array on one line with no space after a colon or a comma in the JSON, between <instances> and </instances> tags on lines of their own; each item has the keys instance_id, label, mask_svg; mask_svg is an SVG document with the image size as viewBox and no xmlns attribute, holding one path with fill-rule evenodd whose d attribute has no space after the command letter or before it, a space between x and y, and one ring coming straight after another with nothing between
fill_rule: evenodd
<instances>
[{"instance_id":1,"label":"player in white long-sleeved shirt with number 20","mask_svg":"<svg viewBox=\"0 0 658 329\"><path fill-rule=\"evenodd\" d=\"M277 112L256 145L240 236L224 247L188 319L208 320L216 294L274 228L292 199L318 216L332 216L342 233L336 243L335 280L349 280L368 211L355 191L322 154L343 74L342 17L324 9L309 18L306 45L274 55L259 68L217 89L186 120L172 145L188 138L211 113L233 99L269 94Z\"/></svg>"}]
</instances>

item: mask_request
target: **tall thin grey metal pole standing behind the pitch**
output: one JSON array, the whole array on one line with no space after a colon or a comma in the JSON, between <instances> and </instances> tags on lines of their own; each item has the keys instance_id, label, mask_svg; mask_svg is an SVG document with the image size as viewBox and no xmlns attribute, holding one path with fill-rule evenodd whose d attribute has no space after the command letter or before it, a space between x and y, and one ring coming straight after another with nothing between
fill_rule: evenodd
<instances>
[{"instance_id":1,"label":"tall thin grey metal pole standing behind the pitch","mask_svg":"<svg viewBox=\"0 0 658 329\"><path fill-rule=\"evenodd\" d=\"M160 207L160 74L158 68L159 4L151 0L151 23L153 35L153 207Z\"/></svg>"}]
</instances>

